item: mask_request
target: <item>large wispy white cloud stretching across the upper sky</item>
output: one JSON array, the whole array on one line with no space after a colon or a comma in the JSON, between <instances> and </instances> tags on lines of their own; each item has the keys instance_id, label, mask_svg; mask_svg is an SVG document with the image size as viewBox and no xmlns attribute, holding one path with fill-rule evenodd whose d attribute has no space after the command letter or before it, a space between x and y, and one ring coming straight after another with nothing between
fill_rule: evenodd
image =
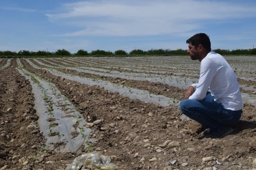
<instances>
[{"instance_id":1,"label":"large wispy white cloud stretching across the upper sky","mask_svg":"<svg viewBox=\"0 0 256 170\"><path fill-rule=\"evenodd\" d=\"M95 0L65 4L63 11L46 16L84 29L54 36L176 35L200 28L203 20L256 16L254 7L195 0Z\"/></svg>"}]
</instances>

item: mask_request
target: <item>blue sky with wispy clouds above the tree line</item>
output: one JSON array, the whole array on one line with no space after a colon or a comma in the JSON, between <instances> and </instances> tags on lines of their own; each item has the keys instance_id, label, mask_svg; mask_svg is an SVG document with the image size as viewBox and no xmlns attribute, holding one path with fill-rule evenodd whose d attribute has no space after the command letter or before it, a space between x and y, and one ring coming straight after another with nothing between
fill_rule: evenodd
<instances>
[{"instance_id":1,"label":"blue sky with wispy clouds above the tree line","mask_svg":"<svg viewBox=\"0 0 256 170\"><path fill-rule=\"evenodd\" d=\"M0 21L0 51L256 47L255 0L2 0Z\"/></svg>"}]
</instances>

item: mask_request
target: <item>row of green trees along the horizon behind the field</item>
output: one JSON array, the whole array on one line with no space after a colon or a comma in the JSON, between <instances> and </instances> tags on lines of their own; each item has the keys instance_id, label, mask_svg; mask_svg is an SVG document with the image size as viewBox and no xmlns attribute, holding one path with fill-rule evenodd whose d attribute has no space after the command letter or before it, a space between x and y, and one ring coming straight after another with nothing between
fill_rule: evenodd
<instances>
[{"instance_id":1,"label":"row of green trees along the horizon behind the field","mask_svg":"<svg viewBox=\"0 0 256 170\"><path fill-rule=\"evenodd\" d=\"M225 50L225 49L214 49L216 53L221 55L256 55L256 48L243 50ZM23 50L19 52L15 51L0 51L0 58L23 58L23 57L132 57L132 56L186 56L187 50L177 49L151 49L148 51L135 49L130 51L129 53L124 50L116 50L115 52L104 51L104 50L95 50L90 53L86 50L78 50L76 53L71 53L65 49L59 49L55 52L49 51L28 51Z\"/></svg>"}]
</instances>

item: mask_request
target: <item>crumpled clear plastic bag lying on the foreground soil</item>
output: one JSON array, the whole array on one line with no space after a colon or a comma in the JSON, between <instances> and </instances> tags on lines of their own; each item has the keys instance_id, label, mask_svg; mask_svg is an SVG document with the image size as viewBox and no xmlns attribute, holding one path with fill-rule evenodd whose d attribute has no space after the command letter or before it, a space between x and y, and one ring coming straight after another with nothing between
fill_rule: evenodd
<instances>
[{"instance_id":1,"label":"crumpled clear plastic bag lying on the foreground soil","mask_svg":"<svg viewBox=\"0 0 256 170\"><path fill-rule=\"evenodd\" d=\"M115 164L110 163L108 156L102 155L100 152L91 152L78 156L67 166L65 170L79 170L82 166L91 169L115 170L118 168Z\"/></svg>"}]
</instances>

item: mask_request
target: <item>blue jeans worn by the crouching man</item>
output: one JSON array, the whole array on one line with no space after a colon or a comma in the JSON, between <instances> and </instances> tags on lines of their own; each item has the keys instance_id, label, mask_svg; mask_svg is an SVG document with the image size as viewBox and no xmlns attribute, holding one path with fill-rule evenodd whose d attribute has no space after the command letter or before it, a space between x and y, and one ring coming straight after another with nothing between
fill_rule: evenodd
<instances>
[{"instance_id":1,"label":"blue jeans worn by the crouching man","mask_svg":"<svg viewBox=\"0 0 256 170\"><path fill-rule=\"evenodd\" d=\"M242 110L224 109L220 103L214 102L210 92L203 100L182 100L180 107L184 115L216 132L222 131L225 125L237 124L242 115Z\"/></svg>"}]
</instances>

